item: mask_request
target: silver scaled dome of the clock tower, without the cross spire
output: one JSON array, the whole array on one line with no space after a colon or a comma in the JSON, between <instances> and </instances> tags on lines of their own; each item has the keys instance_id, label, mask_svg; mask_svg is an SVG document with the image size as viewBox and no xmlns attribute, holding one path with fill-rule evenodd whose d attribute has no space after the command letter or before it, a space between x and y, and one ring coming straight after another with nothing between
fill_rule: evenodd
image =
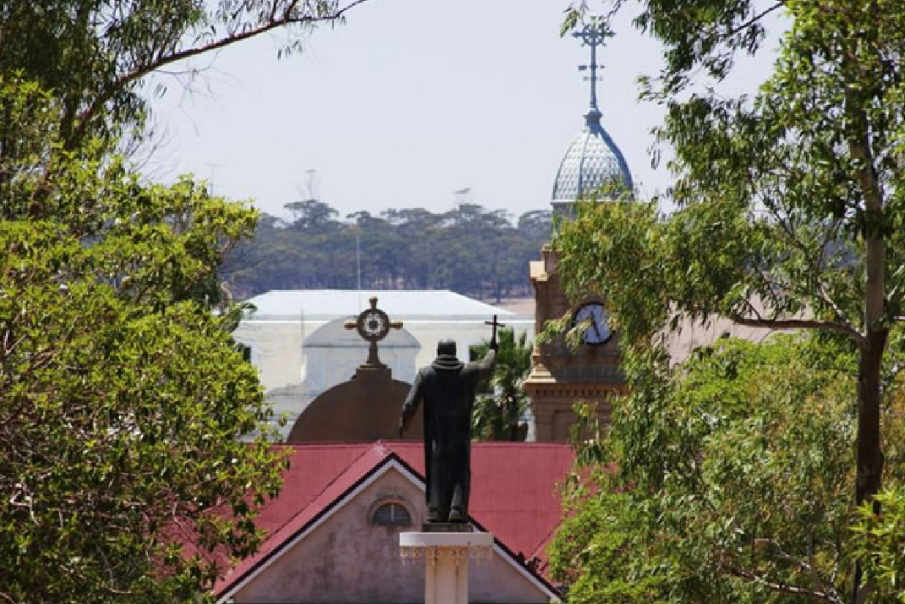
<instances>
[{"instance_id":1,"label":"silver scaled dome of the clock tower, without the cross spire","mask_svg":"<svg viewBox=\"0 0 905 604\"><path fill-rule=\"evenodd\" d=\"M553 205L571 204L601 187L621 183L632 190L632 174L622 151L600 125L600 111L592 105L581 130L559 164L553 183Z\"/></svg>"}]
</instances>

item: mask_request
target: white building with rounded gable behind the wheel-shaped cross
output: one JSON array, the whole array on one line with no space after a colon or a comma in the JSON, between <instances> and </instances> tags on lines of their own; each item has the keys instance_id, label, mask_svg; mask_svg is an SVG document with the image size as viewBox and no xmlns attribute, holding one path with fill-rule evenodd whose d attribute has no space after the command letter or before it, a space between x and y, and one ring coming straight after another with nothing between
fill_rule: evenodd
<instances>
[{"instance_id":1,"label":"white building with rounded gable behind the wheel-shaped cross","mask_svg":"<svg viewBox=\"0 0 905 604\"><path fill-rule=\"evenodd\" d=\"M534 337L533 314L514 312L449 291L285 290L249 300L255 311L233 337L251 350L262 386L276 414L283 415L285 437L311 400L351 379L367 359L367 346L346 321L369 308L368 300L391 321L402 321L379 343L380 360L393 378L411 383L419 367L429 365L437 343L455 340L461 359L471 346L488 340L484 321L497 315L501 323Z\"/></svg>"}]
</instances>

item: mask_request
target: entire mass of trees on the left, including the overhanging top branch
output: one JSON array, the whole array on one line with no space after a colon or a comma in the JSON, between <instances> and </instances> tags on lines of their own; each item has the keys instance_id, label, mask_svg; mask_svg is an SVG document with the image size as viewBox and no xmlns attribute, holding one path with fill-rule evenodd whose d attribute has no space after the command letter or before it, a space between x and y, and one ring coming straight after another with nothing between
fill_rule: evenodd
<instances>
[{"instance_id":1,"label":"entire mass of trees on the left, including the overhanging top branch","mask_svg":"<svg viewBox=\"0 0 905 604\"><path fill-rule=\"evenodd\" d=\"M115 150L148 74L361 1L0 5L0 599L205 601L260 543L281 455L220 295L257 213Z\"/></svg>"}]
</instances>

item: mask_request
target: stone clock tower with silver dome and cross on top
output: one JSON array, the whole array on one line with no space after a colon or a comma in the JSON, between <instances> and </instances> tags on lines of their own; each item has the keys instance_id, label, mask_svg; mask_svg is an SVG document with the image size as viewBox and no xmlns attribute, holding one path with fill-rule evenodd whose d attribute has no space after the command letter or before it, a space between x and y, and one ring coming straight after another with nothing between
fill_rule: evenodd
<instances>
[{"instance_id":1,"label":"stone clock tower with silver dome and cross on top","mask_svg":"<svg viewBox=\"0 0 905 604\"><path fill-rule=\"evenodd\" d=\"M614 203L612 193L606 191L631 191L633 187L625 158L601 125L603 115L597 107L597 47L605 42L605 31L592 20L574 36L590 49L590 63L579 69L588 72L591 99L584 127L569 145L553 184L551 204L563 220L572 215L578 199ZM576 419L572 411L576 402L595 403L598 418L607 422L608 399L624 391L618 334L610 330L604 301L591 298L569 302L557 276L557 254L549 245L541 250L539 261L530 263L529 271L534 286L535 332L543 331L547 321L563 317L584 330L577 348L561 338L535 344L531 373L524 383L534 413L535 439L567 441Z\"/></svg>"}]
</instances>

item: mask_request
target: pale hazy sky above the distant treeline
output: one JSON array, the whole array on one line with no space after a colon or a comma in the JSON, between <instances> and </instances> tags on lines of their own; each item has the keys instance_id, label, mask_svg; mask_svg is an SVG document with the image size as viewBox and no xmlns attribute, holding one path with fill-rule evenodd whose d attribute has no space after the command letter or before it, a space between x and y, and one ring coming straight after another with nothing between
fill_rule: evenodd
<instances>
[{"instance_id":1,"label":"pale hazy sky above the distant treeline","mask_svg":"<svg viewBox=\"0 0 905 604\"><path fill-rule=\"evenodd\" d=\"M167 143L148 169L192 172L270 213L316 193L345 216L450 209L454 191L513 216L548 207L559 161L583 124L587 49L558 34L566 0L371 0L348 23L276 52L284 34L209 57L194 91L172 79L153 102ZM603 124L643 197L667 187L648 155L662 110L637 101L657 45L627 25L598 53ZM741 89L769 61L750 62Z\"/></svg>"}]
</instances>

